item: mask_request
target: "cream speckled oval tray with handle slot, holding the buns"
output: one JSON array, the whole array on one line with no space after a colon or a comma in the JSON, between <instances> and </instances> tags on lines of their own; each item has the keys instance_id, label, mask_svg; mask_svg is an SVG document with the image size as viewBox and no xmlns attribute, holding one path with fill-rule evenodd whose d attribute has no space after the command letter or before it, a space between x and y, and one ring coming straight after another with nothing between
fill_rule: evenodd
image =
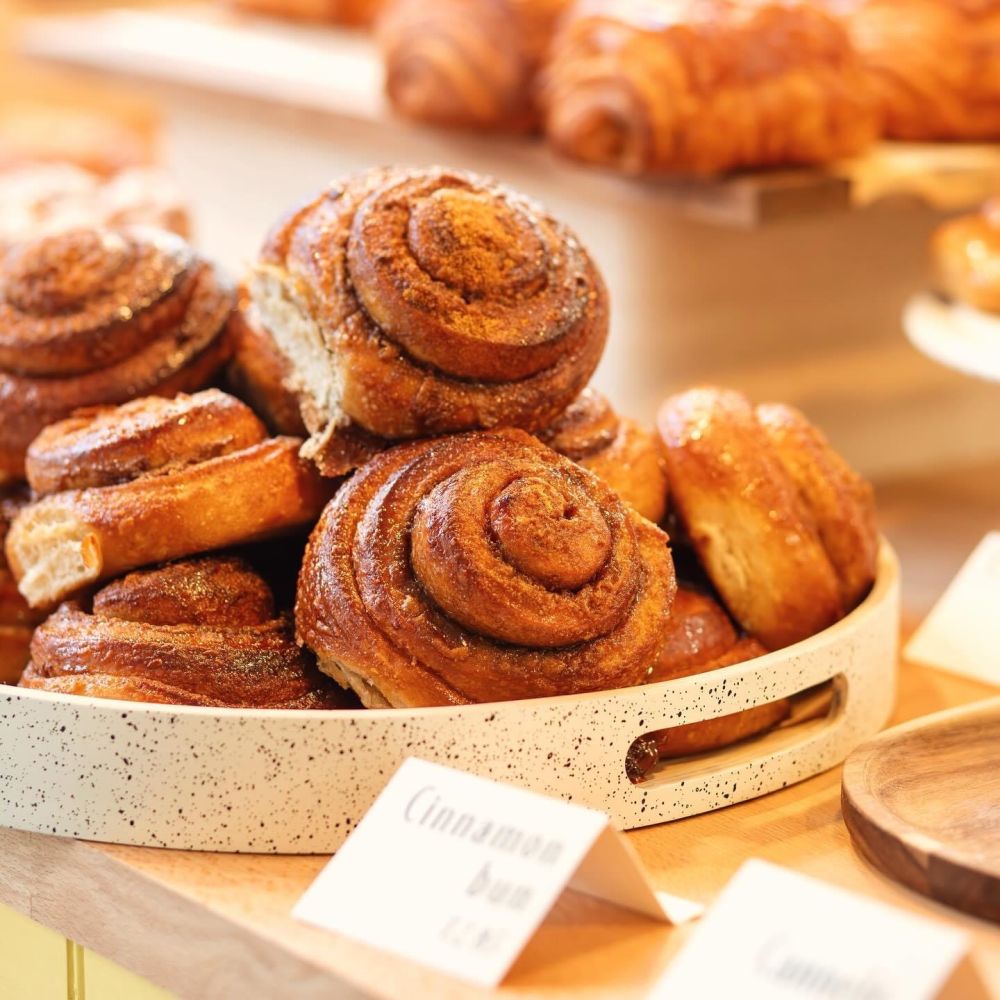
<instances>
[{"instance_id":1,"label":"cream speckled oval tray with handle slot, holding the buns","mask_svg":"<svg viewBox=\"0 0 1000 1000\"><path fill-rule=\"evenodd\" d=\"M408 756L602 809L630 829L763 795L841 762L895 694L898 567L843 621L733 667L620 691L462 708L241 711L0 689L0 824L125 844L330 852ZM633 785L644 732L833 683L829 712Z\"/></svg>"}]
</instances>

